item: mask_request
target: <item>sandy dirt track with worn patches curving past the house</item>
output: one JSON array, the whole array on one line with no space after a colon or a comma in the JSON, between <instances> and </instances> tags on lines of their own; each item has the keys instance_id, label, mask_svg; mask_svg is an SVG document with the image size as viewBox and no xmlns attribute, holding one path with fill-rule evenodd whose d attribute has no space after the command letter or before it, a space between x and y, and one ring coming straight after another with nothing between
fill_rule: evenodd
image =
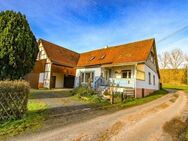
<instances>
[{"instance_id":1,"label":"sandy dirt track with worn patches curving past the house","mask_svg":"<svg viewBox=\"0 0 188 141\"><path fill-rule=\"evenodd\" d=\"M187 96L178 92L153 102L52 131L17 138L19 141L168 141L162 126L181 114ZM175 101L176 99L176 101Z\"/></svg>"}]
</instances>

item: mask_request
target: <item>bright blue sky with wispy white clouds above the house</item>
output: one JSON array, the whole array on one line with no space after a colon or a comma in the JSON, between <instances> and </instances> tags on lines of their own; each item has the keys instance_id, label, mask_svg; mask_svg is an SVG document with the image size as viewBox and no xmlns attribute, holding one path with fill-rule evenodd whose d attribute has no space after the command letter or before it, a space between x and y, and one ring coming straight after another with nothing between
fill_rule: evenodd
<instances>
[{"instance_id":1,"label":"bright blue sky with wispy white clouds above the house","mask_svg":"<svg viewBox=\"0 0 188 141\"><path fill-rule=\"evenodd\" d=\"M0 0L2 10L22 12L37 38L77 52L155 38L158 52L188 53L188 0Z\"/></svg>"}]
</instances>

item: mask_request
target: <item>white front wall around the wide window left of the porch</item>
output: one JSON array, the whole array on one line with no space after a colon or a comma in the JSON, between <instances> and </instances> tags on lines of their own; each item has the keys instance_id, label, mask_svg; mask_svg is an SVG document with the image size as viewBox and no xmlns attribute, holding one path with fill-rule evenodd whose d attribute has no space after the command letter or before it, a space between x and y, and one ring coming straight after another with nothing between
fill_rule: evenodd
<instances>
[{"instance_id":1,"label":"white front wall around the wide window left of the porch","mask_svg":"<svg viewBox=\"0 0 188 141\"><path fill-rule=\"evenodd\" d=\"M79 77L80 77L80 72L94 72L94 81L97 80L101 76L101 68L81 68L81 69L76 69L76 77L75 77L75 87L79 86Z\"/></svg>"}]
</instances>

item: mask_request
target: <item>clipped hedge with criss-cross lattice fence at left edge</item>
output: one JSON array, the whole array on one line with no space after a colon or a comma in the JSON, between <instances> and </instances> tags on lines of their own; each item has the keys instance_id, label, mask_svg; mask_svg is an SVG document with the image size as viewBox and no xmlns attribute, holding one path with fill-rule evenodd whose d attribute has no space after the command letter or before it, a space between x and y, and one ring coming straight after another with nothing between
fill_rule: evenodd
<instances>
[{"instance_id":1,"label":"clipped hedge with criss-cross lattice fence at left edge","mask_svg":"<svg viewBox=\"0 0 188 141\"><path fill-rule=\"evenodd\" d=\"M0 121L22 118L27 111L29 83L0 81Z\"/></svg>"}]
</instances>

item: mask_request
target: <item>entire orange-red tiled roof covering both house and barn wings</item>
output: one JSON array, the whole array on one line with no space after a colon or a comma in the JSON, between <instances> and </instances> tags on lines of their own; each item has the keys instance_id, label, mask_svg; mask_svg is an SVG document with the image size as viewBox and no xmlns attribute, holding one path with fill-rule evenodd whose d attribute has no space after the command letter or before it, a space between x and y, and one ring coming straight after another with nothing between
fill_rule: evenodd
<instances>
[{"instance_id":1,"label":"entire orange-red tiled roof covering both house and barn wings","mask_svg":"<svg viewBox=\"0 0 188 141\"><path fill-rule=\"evenodd\" d=\"M133 43L76 53L69 49L40 39L42 45L53 64L67 67L86 67L102 64L119 64L146 61L154 39L147 39Z\"/></svg>"}]
</instances>

